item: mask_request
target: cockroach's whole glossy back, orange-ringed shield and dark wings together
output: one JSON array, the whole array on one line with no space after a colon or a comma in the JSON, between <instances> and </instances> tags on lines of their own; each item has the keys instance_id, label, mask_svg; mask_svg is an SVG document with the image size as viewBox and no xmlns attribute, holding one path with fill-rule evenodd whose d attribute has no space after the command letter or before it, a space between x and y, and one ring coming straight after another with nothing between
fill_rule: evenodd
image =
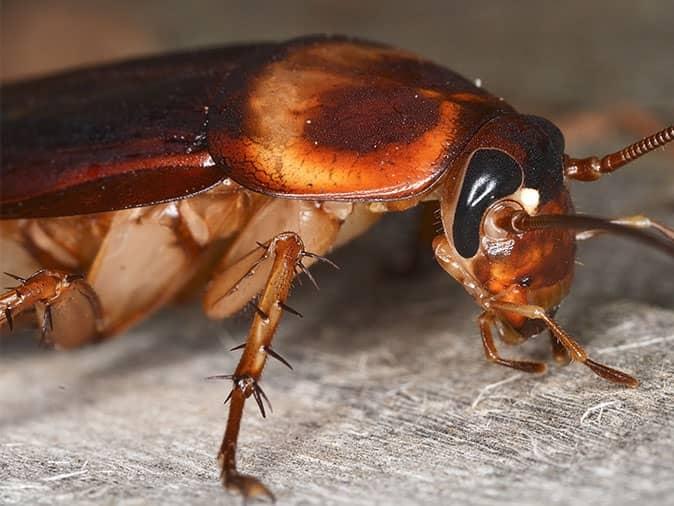
<instances>
[{"instance_id":1,"label":"cockroach's whole glossy back, orange-ringed shield and dark wings together","mask_svg":"<svg viewBox=\"0 0 674 506\"><path fill-rule=\"evenodd\" d=\"M0 218L152 204L225 177L400 199L510 107L383 46L314 37L106 65L2 88Z\"/></svg>"}]
</instances>

